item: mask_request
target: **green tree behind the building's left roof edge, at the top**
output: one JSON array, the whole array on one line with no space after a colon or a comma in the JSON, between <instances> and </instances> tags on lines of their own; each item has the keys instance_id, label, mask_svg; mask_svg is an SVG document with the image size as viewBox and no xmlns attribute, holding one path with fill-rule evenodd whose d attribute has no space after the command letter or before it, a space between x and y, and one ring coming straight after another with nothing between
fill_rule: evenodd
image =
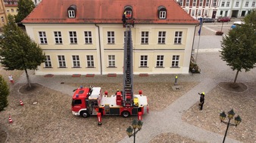
<instances>
[{"instance_id":1,"label":"green tree behind the building's left roof edge, at the top","mask_svg":"<svg viewBox=\"0 0 256 143\"><path fill-rule=\"evenodd\" d=\"M15 22L20 23L24 18L26 18L31 11L35 8L32 0L19 0L17 2L18 13L15 16Z\"/></svg>"}]
</instances>

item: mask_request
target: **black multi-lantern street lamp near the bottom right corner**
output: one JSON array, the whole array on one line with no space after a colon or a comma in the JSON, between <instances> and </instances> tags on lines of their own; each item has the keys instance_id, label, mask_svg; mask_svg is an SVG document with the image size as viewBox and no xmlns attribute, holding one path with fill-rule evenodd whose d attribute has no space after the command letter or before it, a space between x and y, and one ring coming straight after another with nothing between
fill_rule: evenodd
<instances>
[{"instance_id":1,"label":"black multi-lantern street lamp near the bottom right corner","mask_svg":"<svg viewBox=\"0 0 256 143\"><path fill-rule=\"evenodd\" d=\"M225 122L225 121L224 121L225 118L226 118L225 112L223 111L222 113L220 113L220 122L226 124L226 132L225 132L225 135L224 135L224 138L223 138L223 143L225 142L226 133L227 133L227 130L229 129L229 125L231 125L231 126L237 126L237 125L239 125L239 123L241 123L241 121L242 121L241 117L238 115L237 117L235 117L235 124L230 123L230 120L233 119L234 115L235 115L235 112L233 111L233 109L231 109L230 111L228 111L228 112L227 112L227 117L229 118L229 121L228 121L228 122Z\"/></svg>"}]
</instances>

